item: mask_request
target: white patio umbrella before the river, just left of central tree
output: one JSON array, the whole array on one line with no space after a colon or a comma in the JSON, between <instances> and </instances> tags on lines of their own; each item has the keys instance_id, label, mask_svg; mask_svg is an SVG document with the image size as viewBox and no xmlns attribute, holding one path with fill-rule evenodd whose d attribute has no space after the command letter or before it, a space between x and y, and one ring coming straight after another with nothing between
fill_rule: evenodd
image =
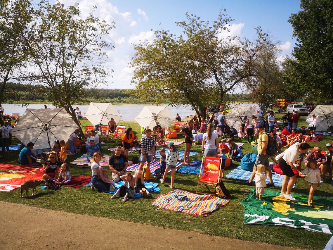
<instances>
[{"instance_id":1,"label":"white patio umbrella before the river, just left of central tree","mask_svg":"<svg viewBox=\"0 0 333 250\"><path fill-rule=\"evenodd\" d=\"M174 118L171 116L167 107L163 106L145 106L135 120L141 127L148 126L153 128L156 122L159 122L161 127L169 127L174 123Z\"/></svg>"}]
</instances>

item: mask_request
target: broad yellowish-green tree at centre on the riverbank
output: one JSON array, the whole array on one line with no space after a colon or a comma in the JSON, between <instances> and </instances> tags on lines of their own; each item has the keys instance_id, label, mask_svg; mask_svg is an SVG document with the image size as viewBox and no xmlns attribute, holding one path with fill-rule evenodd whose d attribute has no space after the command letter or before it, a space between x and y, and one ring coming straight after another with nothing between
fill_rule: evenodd
<instances>
[{"instance_id":1,"label":"broad yellowish-green tree at centre on the riverbank","mask_svg":"<svg viewBox=\"0 0 333 250\"><path fill-rule=\"evenodd\" d=\"M152 43L135 45L132 83L138 95L153 93L157 103L167 96L174 104L191 105L199 120L205 118L206 107L224 103L224 95L253 74L255 56L268 42L260 28L253 42L237 37L222 39L222 31L233 21L224 11L211 26L186 13L186 21L176 22L183 35L160 30Z\"/></svg>"}]
</instances>

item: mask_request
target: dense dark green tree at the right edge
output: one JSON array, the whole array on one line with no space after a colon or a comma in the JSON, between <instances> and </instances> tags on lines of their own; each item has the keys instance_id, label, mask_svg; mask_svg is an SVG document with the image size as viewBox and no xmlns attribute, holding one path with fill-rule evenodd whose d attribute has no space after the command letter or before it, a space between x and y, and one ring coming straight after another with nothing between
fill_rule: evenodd
<instances>
[{"instance_id":1,"label":"dense dark green tree at the right edge","mask_svg":"<svg viewBox=\"0 0 333 250\"><path fill-rule=\"evenodd\" d=\"M314 104L333 104L332 6L332 0L301 0L302 10L288 20L296 37L296 61L289 61L285 77Z\"/></svg>"}]
</instances>

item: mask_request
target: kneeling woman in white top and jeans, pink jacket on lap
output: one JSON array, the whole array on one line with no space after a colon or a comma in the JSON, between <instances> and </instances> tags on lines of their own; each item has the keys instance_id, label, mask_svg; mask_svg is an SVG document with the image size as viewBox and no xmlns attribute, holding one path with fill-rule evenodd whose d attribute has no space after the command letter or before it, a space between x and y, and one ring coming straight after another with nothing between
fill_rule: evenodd
<instances>
[{"instance_id":1,"label":"kneeling woman in white top and jeans, pink jacket on lap","mask_svg":"<svg viewBox=\"0 0 333 250\"><path fill-rule=\"evenodd\" d=\"M91 164L91 190L96 187L101 191L113 191L115 190L115 184L110 180L107 172L112 172L112 170L104 169L101 167L101 156L98 152L93 154L93 163Z\"/></svg>"}]
</instances>

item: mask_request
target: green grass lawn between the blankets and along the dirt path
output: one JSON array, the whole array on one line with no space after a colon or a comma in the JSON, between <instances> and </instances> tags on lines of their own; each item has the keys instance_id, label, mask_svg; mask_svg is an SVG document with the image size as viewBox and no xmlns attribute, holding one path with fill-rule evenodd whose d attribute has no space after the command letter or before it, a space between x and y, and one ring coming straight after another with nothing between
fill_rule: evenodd
<instances>
[{"instance_id":1,"label":"green grass lawn between the blankets and along the dirt path","mask_svg":"<svg viewBox=\"0 0 333 250\"><path fill-rule=\"evenodd\" d=\"M282 115L282 113L277 114L276 118L281 118ZM91 125L86 119L82 119L81 122L82 126ZM140 139L140 126L138 123L120 122L119 124L132 127L133 130L137 132ZM305 116L301 116L298 125L307 126ZM320 142L310 142L309 144L311 147L320 146L324 149L326 143L332 143L332 138L333 137L322 136ZM184 137L178 136L177 140L184 140ZM108 148L115 147L119 144L119 142L115 141L108 143L105 140L105 142L106 144L104 144L102 148L102 153L104 155L110 155ZM243 142L245 142L245 140L243 140ZM16 138L13 138L12 144L18 143L20 142ZM242 151L244 155L248 152L252 152L250 144L245 142L243 147L244 149ZM177 149L184 150L184 144L177 146ZM190 159L201 160L201 146L193 145L191 150L196 151L199 154L192 156ZM0 163L17 164L16 160L18 159L18 154L19 151L12 151L12 153L6 158L0 158ZM131 160L134 156L139 156L139 153L129 154L129 159ZM69 155L68 162L74 160L76 157L78 156ZM226 169L225 174L229 173L238 165L239 162L233 162L233 164ZM90 168L81 169L81 167L70 164L70 169L71 175L91 175ZM197 175L176 173L174 187L195 193L197 177ZM243 185L240 181L230 179L224 179L224 183L230 191L230 202L226 207L220 208L208 217L188 215L165 209L156 210L156 207L151 205L153 200L157 198L159 194L164 194L170 191L170 174L167 176L166 182L164 184L160 183L158 186L161 188L161 191L159 193L152 193L150 199L131 199L126 203L124 203L122 199L110 200L110 194L100 193L96 190L91 191L90 187L81 187L79 189L62 187L58 191L39 189L38 191L40 193L29 199L21 199L20 190L16 189L12 192L0 192L0 200L72 213L116 218L167 228L304 249L323 249L327 241L330 239L331 235L324 233L313 233L305 230L277 226L243 225L244 208L240 205L240 202L249 194L249 191L247 190L248 186ZM280 190L278 187L271 189L276 191ZM307 189L304 187L304 179L298 179L296 188L294 188L292 192L308 194ZM332 197L332 193L333 185L328 183L322 184L315 191L315 195L321 197Z\"/></svg>"}]
</instances>

